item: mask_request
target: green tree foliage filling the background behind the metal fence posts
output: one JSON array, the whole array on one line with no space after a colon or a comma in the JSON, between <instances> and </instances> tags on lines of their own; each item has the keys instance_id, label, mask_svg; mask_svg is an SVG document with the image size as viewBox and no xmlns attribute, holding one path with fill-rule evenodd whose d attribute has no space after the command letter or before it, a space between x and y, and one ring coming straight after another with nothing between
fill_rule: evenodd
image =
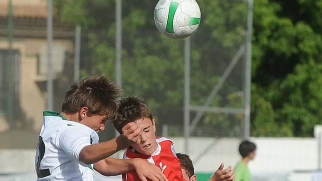
<instances>
[{"instance_id":1,"label":"green tree foliage filling the background behind the metal fence posts","mask_svg":"<svg viewBox=\"0 0 322 181\"><path fill-rule=\"evenodd\" d=\"M54 0L62 21L81 25L83 76L115 74L114 0ZM202 105L245 42L247 3L198 0L201 24L191 40L191 104ZM182 40L157 32L156 1L122 4L122 88L143 96L159 124L182 125ZM255 0L252 27L251 135L311 136L322 118L322 0ZM211 106L242 108L243 62ZM194 118L191 114L191 119ZM205 113L194 134L238 135L240 114ZM159 127L160 128L160 127ZM182 128L171 127L174 132Z\"/></svg>"}]
</instances>

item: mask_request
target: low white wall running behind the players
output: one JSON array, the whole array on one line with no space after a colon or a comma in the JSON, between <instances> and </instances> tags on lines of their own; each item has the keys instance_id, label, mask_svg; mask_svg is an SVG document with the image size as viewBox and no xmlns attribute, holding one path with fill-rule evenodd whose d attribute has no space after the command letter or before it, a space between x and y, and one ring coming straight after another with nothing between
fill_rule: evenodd
<instances>
[{"instance_id":1,"label":"low white wall running behind the players","mask_svg":"<svg viewBox=\"0 0 322 181\"><path fill-rule=\"evenodd\" d=\"M171 137L176 152L183 152L184 139ZM316 138L270 138L252 137L257 145L256 157L249 163L254 180L267 181L310 181L312 172L305 170L317 169ZM213 172L223 162L225 167L234 165L239 159L236 138L191 137L189 155L194 162L196 172ZM1 180L34 180L35 150L0 150ZM302 170L302 172L294 172ZM13 179L13 175L14 179ZM23 176L22 176L23 175ZM9 179L9 178L12 179ZM32 178L32 179L31 179ZM117 177L116 177L117 178ZM119 177L118 177L119 178ZM96 175L96 180L103 180ZM322 180L322 178L320 179Z\"/></svg>"}]
</instances>

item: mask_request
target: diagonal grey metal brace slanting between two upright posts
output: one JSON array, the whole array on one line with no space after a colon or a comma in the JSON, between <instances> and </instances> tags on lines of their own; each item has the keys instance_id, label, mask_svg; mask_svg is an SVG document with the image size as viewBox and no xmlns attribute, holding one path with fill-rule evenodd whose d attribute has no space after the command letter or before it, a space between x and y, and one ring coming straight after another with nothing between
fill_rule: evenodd
<instances>
[{"instance_id":1,"label":"diagonal grey metal brace slanting between two upright posts","mask_svg":"<svg viewBox=\"0 0 322 181\"><path fill-rule=\"evenodd\" d=\"M232 71L233 67L238 62L239 58L244 53L244 51L245 51L245 47L244 47L244 45L241 45L239 50L238 50L238 52L235 54L235 56L232 58L232 60L228 64L227 68L223 72L223 74L222 74L221 78L219 79L218 83L211 90L209 96L206 99L206 102L203 105L203 108L198 111L197 115L192 120L192 123L191 123L191 126L190 126L190 133L195 128L196 124L198 123L198 121L202 117L203 113L206 111L207 107L209 106L211 100L217 94L217 92L221 88L222 84L224 83L224 81L226 80L226 78L228 77L228 75L230 74L230 72Z\"/></svg>"}]
</instances>

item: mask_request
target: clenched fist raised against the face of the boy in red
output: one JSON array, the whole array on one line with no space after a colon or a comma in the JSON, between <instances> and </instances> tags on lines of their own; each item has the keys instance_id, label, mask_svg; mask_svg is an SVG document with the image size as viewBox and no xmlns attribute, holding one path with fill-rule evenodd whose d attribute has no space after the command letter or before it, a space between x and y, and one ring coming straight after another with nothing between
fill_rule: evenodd
<instances>
[{"instance_id":1,"label":"clenched fist raised against the face of the boy in red","mask_svg":"<svg viewBox=\"0 0 322 181\"><path fill-rule=\"evenodd\" d=\"M141 135L142 128L135 122L129 122L122 128L123 135L129 140L130 143L137 142Z\"/></svg>"}]
</instances>

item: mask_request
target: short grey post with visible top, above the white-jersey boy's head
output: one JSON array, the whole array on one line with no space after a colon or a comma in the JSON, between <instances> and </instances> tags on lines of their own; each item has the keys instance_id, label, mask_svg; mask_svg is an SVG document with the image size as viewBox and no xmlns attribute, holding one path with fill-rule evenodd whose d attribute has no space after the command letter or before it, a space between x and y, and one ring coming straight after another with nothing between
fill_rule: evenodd
<instances>
[{"instance_id":1,"label":"short grey post with visible top, above the white-jersey boy's head","mask_svg":"<svg viewBox=\"0 0 322 181\"><path fill-rule=\"evenodd\" d=\"M75 28L75 56L74 56L74 80L79 79L80 71L80 36L81 27L77 25Z\"/></svg>"}]
</instances>

